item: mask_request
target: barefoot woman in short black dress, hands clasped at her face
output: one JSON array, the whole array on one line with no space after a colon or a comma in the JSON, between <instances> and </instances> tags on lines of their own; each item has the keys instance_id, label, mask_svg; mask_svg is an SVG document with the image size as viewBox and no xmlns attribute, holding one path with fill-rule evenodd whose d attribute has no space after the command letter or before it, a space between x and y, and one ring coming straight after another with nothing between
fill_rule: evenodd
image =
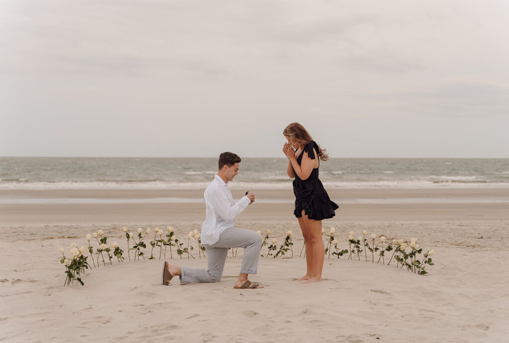
<instances>
[{"instance_id":1,"label":"barefoot woman in short black dress, hands clasped at her face","mask_svg":"<svg viewBox=\"0 0 509 343\"><path fill-rule=\"evenodd\" d=\"M288 140L283 146L283 152L289 160L287 173L295 178L294 214L299 221L306 249L306 275L297 280L302 280L301 283L319 282L322 281L325 258L322 220L334 217L334 210L339 207L330 200L318 178L320 160L327 161L329 156L299 123L288 125L283 135Z\"/></svg>"}]
</instances>

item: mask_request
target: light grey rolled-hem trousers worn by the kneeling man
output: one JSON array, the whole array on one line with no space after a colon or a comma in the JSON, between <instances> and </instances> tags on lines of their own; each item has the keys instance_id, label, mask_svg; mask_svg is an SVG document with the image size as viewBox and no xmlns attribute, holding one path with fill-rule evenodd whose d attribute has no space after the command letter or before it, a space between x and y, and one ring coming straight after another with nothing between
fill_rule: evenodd
<instances>
[{"instance_id":1,"label":"light grey rolled-hem trousers worn by the kneeling man","mask_svg":"<svg viewBox=\"0 0 509 343\"><path fill-rule=\"evenodd\" d=\"M182 267L180 282L218 282L221 280L228 248L244 248L240 272L256 274L258 259L262 248L262 236L258 233L238 227L230 227L219 235L214 244L204 244L207 249L208 270Z\"/></svg>"}]
</instances>

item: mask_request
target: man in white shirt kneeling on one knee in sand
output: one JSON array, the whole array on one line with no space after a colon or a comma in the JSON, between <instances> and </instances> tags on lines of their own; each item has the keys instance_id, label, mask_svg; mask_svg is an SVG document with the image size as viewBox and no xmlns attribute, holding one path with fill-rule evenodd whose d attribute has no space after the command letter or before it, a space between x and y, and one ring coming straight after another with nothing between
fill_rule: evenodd
<instances>
[{"instance_id":1,"label":"man in white shirt kneeling on one knee in sand","mask_svg":"<svg viewBox=\"0 0 509 343\"><path fill-rule=\"evenodd\" d=\"M233 180L239 171L241 159L232 152L219 155L219 170L205 189L207 217L202 224L202 244L207 249L208 270L171 265L164 261L161 283L168 285L174 276L180 276L181 283L218 282L221 280L228 248L244 248L240 274L234 288L263 288L247 279L256 274L262 248L262 237L246 229L235 227L235 217L254 201L254 194L247 193L233 202L227 182Z\"/></svg>"}]
</instances>

